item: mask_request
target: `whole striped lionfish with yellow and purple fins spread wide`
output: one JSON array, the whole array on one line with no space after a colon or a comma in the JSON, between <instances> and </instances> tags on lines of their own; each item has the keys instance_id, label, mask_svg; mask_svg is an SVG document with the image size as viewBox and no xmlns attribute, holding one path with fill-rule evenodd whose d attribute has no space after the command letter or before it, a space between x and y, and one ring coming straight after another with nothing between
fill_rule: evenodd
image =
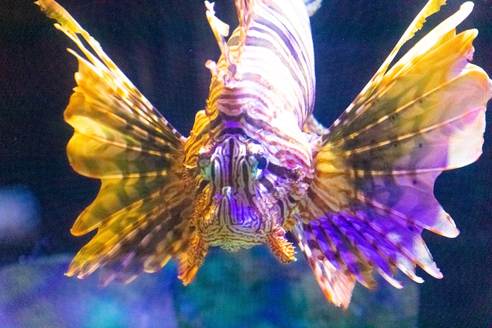
<instances>
[{"instance_id":1,"label":"whole striped lionfish with yellow and purple fins spread wide","mask_svg":"<svg viewBox=\"0 0 492 328\"><path fill-rule=\"evenodd\" d=\"M207 251L266 244L295 261L291 235L325 296L347 307L372 271L402 288L418 265L442 274L424 229L459 234L433 195L444 170L482 152L491 80L469 63L477 30L456 34L464 3L390 67L400 47L444 0L430 0L366 87L329 128L312 115L314 56L309 16L320 0L236 0L239 26L205 1L221 56L205 110L184 137L53 0L36 3L80 48L77 86L64 112L75 132L68 159L101 180L71 233L97 234L66 275L102 268L102 282L133 280L176 259L186 285ZM83 42L83 39L85 42Z\"/></svg>"}]
</instances>

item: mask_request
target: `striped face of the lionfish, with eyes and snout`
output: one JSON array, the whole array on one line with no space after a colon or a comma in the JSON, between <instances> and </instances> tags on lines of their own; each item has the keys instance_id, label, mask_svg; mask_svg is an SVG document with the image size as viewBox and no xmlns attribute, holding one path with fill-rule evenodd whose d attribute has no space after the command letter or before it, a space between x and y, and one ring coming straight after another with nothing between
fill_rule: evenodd
<instances>
[{"instance_id":1,"label":"striped face of the lionfish, with eyes and snout","mask_svg":"<svg viewBox=\"0 0 492 328\"><path fill-rule=\"evenodd\" d=\"M265 148L244 136L225 135L199 150L197 227L209 244L238 250L264 241L274 214L261 205L259 180L267 166Z\"/></svg>"}]
</instances>

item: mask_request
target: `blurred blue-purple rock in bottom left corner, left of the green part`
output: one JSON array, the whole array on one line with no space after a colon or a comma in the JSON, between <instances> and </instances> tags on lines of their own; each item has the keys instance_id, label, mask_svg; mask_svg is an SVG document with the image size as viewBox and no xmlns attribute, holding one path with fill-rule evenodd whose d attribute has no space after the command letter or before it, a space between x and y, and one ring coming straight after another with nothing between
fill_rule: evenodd
<instances>
[{"instance_id":1,"label":"blurred blue-purple rock in bottom left corner, left of the green part","mask_svg":"<svg viewBox=\"0 0 492 328\"><path fill-rule=\"evenodd\" d=\"M65 277L71 256L40 258L0 270L0 327L176 327L164 271L135 284L97 285Z\"/></svg>"}]
</instances>

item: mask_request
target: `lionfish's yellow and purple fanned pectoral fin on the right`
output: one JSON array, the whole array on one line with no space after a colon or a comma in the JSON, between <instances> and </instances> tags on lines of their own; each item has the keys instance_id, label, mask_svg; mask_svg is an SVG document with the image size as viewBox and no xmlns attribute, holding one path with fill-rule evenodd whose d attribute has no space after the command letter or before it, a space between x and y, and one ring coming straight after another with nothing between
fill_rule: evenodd
<instances>
[{"instance_id":1,"label":"lionfish's yellow and purple fanned pectoral fin on the right","mask_svg":"<svg viewBox=\"0 0 492 328\"><path fill-rule=\"evenodd\" d=\"M416 265L442 274L421 237L458 230L433 195L444 170L482 152L491 80L472 59L476 30L456 35L467 2L387 71L401 45L443 1L429 1L389 60L314 149L315 177L294 235L327 298L348 306L355 279L375 269L395 287L396 268L417 282Z\"/></svg>"}]
</instances>

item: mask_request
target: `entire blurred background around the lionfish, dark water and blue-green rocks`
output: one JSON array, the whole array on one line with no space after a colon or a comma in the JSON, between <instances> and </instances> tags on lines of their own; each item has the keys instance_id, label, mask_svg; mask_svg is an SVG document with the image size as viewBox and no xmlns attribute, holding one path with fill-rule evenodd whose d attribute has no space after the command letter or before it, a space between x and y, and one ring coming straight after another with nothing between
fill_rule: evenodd
<instances>
[{"instance_id":1,"label":"entire blurred background around the lionfish, dark water and blue-green rocks","mask_svg":"<svg viewBox=\"0 0 492 328\"><path fill-rule=\"evenodd\" d=\"M220 54L203 1L59 1L128 78L187 135L208 96L205 61ZM232 0L217 16L236 26ZM455 12L448 0L424 32ZM398 5L397 5L398 3ZM366 85L423 0L329 1L311 18L316 65L314 114L330 125ZM184 287L176 265L128 285L97 286L63 276L92 234L69 229L99 181L79 176L65 147L62 113L75 86L75 45L31 0L0 0L0 327L490 327L492 325L492 112L484 153L443 173L435 195L460 236L424 232L444 278L418 269L405 288L360 284L348 310L326 301L304 258L282 265L264 247L214 249ZM473 63L492 75L492 1L477 0L458 31L477 28ZM417 38L424 32L419 32ZM408 50L405 46L401 53ZM376 274L377 275L377 274Z\"/></svg>"}]
</instances>

